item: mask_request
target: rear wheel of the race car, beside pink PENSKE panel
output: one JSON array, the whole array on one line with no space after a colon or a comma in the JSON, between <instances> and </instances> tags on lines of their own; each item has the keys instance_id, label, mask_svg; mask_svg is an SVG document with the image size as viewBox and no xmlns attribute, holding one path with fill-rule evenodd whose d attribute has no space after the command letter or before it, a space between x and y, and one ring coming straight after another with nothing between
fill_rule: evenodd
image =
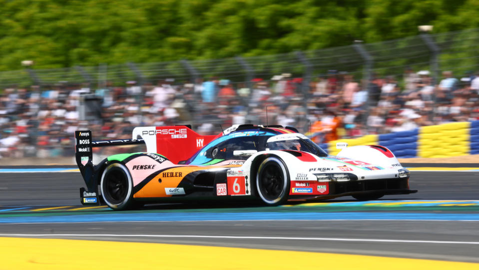
<instances>
[{"instance_id":1,"label":"rear wheel of the race car, beside pink PENSKE panel","mask_svg":"<svg viewBox=\"0 0 479 270\"><path fill-rule=\"evenodd\" d=\"M133 205L133 181L125 165L109 164L101 175L100 188L103 199L113 210L124 210Z\"/></svg>"}]
</instances>

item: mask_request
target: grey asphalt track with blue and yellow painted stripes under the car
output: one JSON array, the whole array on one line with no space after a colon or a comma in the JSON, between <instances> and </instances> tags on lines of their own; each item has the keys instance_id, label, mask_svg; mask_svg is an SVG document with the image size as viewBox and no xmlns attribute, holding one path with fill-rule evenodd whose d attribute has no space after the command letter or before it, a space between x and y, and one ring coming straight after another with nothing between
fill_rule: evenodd
<instances>
[{"instance_id":1,"label":"grey asphalt track with blue and yellow painted stripes under the car","mask_svg":"<svg viewBox=\"0 0 479 270\"><path fill-rule=\"evenodd\" d=\"M3 172L0 236L479 262L479 166L461 167L467 171L412 168L411 188L418 193L377 201L343 197L280 207L166 204L121 213L82 207L79 172Z\"/></svg>"}]
</instances>

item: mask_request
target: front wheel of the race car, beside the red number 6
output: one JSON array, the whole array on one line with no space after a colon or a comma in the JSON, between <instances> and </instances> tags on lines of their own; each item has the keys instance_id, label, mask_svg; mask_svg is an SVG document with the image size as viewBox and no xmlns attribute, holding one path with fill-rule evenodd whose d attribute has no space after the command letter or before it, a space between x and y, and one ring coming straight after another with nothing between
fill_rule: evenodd
<instances>
[{"instance_id":1,"label":"front wheel of the race car, beside the red number 6","mask_svg":"<svg viewBox=\"0 0 479 270\"><path fill-rule=\"evenodd\" d=\"M266 158L256 174L258 195L267 205L279 205L288 199L290 181L286 166L278 157Z\"/></svg>"}]
</instances>

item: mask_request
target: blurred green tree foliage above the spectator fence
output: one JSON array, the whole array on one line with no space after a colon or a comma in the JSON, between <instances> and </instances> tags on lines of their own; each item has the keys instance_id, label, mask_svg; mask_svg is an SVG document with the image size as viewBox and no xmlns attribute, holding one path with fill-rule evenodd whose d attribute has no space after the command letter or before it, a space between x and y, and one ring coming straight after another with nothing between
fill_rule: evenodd
<instances>
[{"instance_id":1,"label":"blurred green tree foliage above the spectator fence","mask_svg":"<svg viewBox=\"0 0 479 270\"><path fill-rule=\"evenodd\" d=\"M479 0L0 0L0 70L253 56L479 26Z\"/></svg>"}]
</instances>

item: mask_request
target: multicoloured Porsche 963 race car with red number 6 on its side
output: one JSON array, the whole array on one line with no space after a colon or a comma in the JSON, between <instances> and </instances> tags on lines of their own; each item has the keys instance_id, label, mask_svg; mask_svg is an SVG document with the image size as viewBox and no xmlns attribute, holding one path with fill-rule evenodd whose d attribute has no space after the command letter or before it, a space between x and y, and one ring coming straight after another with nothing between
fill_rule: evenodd
<instances>
[{"instance_id":1,"label":"multicoloured Porsche 963 race car with red number 6 on its side","mask_svg":"<svg viewBox=\"0 0 479 270\"><path fill-rule=\"evenodd\" d=\"M380 145L347 147L328 155L294 127L234 125L203 136L189 125L142 126L132 139L92 141L75 131L76 162L86 188L81 203L106 203L115 210L152 202L199 199L287 200L351 195L359 200L417 192L410 172ZM92 163L92 147L146 144L145 152L108 156Z\"/></svg>"}]
</instances>

